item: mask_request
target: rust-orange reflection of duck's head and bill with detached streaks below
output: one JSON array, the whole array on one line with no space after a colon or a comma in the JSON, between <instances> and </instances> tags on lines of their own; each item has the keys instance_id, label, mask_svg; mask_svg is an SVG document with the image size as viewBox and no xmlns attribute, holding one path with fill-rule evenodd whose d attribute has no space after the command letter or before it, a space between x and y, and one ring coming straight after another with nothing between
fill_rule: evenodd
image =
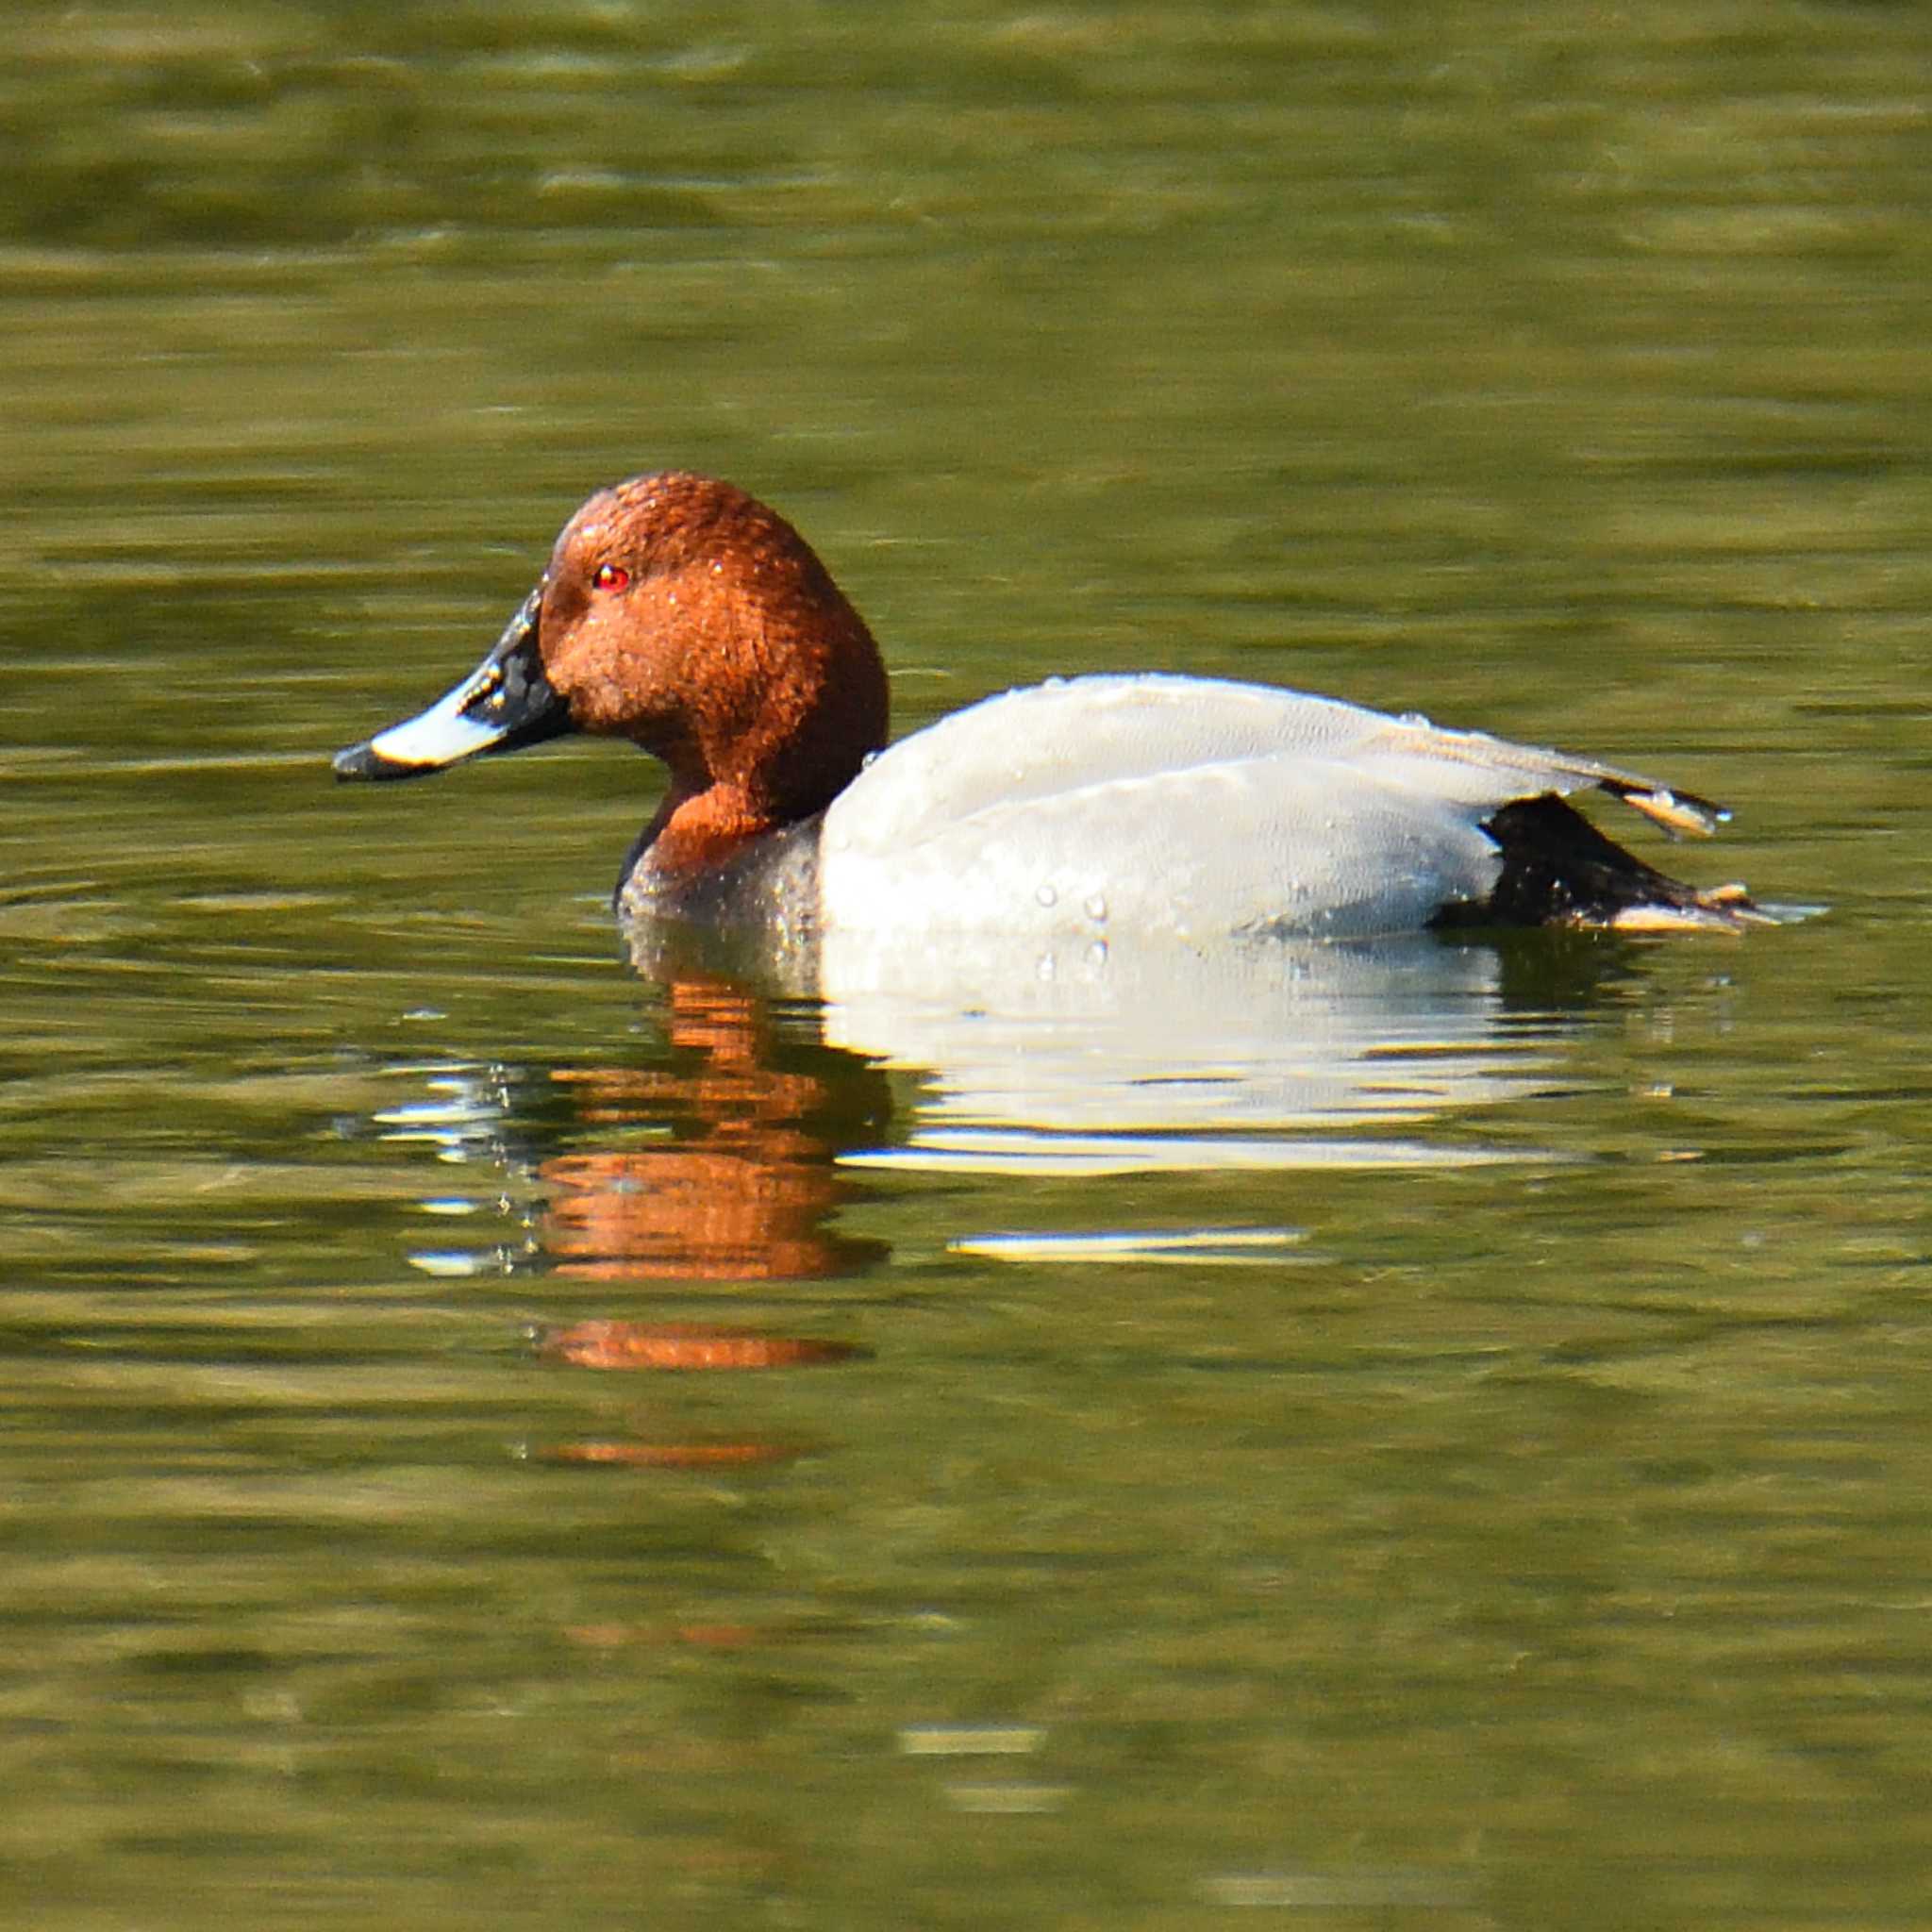
<instances>
[{"instance_id":1,"label":"rust-orange reflection of duck's head and bill with detached streaks below","mask_svg":"<svg viewBox=\"0 0 1932 1932\"><path fill-rule=\"evenodd\" d=\"M864 1061L827 1049L808 1022L765 993L686 976L663 987L668 1063L560 1066L547 1074L502 1066L417 1068L429 1101L379 1117L396 1140L427 1140L452 1161L485 1159L510 1194L537 1196L520 1250L417 1254L442 1275L541 1267L566 1281L651 1287L850 1277L887 1252L844 1235L835 1217L852 1179L838 1151L869 1142L885 1117L885 1080ZM583 1146L591 1142L593 1146ZM558 1151L543 1151L558 1148ZM444 1215L475 1211L464 1198L425 1202ZM537 1352L587 1370L707 1374L813 1368L864 1360L869 1350L759 1323L659 1320L628 1304L535 1331ZM653 1468L726 1468L784 1461L796 1441L761 1432L663 1434L663 1416L632 1416L614 1435L539 1447L545 1461Z\"/></svg>"}]
</instances>

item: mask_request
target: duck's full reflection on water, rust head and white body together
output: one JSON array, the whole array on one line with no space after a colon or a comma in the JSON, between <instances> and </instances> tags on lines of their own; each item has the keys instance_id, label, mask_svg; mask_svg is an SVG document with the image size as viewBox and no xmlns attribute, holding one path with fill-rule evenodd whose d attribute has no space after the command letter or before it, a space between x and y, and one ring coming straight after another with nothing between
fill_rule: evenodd
<instances>
[{"instance_id":1,"label":"duck's full reflection on water, rust head and white body together","mask_svg":"<svg viewBox=\"0 0 1932 1932\"><path fill-rule=\"evenodd\" d=\"M651 935L668 1059L560 1066L386 1124L495 1155L541 1196L529 1260L583 1283L848 1277L858 1171L993 1175L1445 1167L1544 1157L1482 1119L1559 1078L1623 943L825 951L726 970ZM500 1076L498 1076L500 1078ZM535 1103L535 1105L531 1105ZM549 1140L551 1151L518 1159ZM964 1235L966 1231L956 1231ZM1101 1236L1088 1229L1084 1235ZM1167 1231L1167 1242L1186 1231ZM1113 1236L1107 1236L1113 1238ZM956 1244L956 1242L954 1242ZM1252 1231L1246 1236L1254 1242ZM471 1271L462 1256L419 1265ZM514 1264L512 1264L514 1265ZM585 1343L574 1358L597 1352ZM603 1350L612 1362L622 1347ZM701 1350L694 1349L697 1360ZM667 1356L632 1350L634 1366ZM719 1356L723 1360L723 1356Z\"/></svg>"}]
</instances>

